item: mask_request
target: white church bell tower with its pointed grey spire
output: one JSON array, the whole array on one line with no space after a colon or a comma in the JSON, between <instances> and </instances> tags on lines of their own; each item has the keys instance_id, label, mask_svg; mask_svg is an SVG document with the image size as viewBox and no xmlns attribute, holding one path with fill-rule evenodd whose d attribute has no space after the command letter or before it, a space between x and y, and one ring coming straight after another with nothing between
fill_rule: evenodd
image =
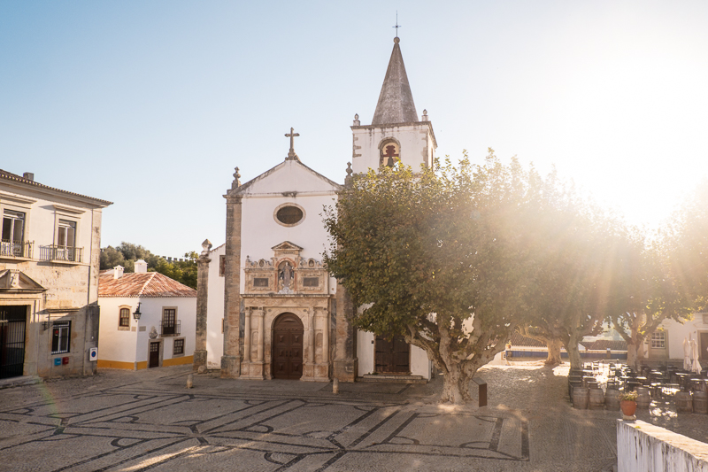
<instances>
[{"instance_id":1,"label":"white church bell tower with its pointed grey spire","mask_svg":"<svg viewBox=\"0 0 708 472\"><path fill-rule=\"evenodd\" d=\"M433 125L427 119L427 111L423 110L422 117L418 117L405 74L400 39L396 36L393 42L371 125L362 126L358 115L354 116L352 170L356 173L393 166L396 161L416 171L420 165L432 166L435 159Z\"/></svg>"}]
</instances>

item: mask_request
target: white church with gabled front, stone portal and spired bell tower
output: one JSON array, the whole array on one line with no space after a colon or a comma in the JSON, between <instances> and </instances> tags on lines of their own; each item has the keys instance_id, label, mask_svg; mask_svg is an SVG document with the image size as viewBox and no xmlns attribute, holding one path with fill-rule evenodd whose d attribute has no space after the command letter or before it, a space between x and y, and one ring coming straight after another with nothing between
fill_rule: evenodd
<instances>
[{"instance_id":1,"label":"white church with gabled front, stone portal and spired bell tower","mask_svg":"<svg viewBox=\"0 0 708 472\"><path fill-rule=\"evenodd\" d=\"M387 339L350 325L356 309L322 264L323 205L347 182L333 182L296 155L241 182L236 167L227 200L226 243L205 241L198 259L194 368L222 377L354 382L366 375L429 380L432 363L403 337ZM399 39L370 125L355 115L347 174L391 166L432 166L435 134L416 112ZM342 166L344 162L342 161ZM348 177L347 181L350 180Z\"/></svg>"}]
</instances>

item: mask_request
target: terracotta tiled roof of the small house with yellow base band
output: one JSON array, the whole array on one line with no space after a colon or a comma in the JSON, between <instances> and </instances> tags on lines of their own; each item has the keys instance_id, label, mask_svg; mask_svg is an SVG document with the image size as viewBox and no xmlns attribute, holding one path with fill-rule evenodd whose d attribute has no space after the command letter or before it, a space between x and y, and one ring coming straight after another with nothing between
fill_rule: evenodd
<instances>
[{"instance_id":1,"label":"terracotta tiled roof of the small house with yellow base band","mask_svg":"<svg viewBox=\"0 0 708 472\"><path fill-rule=\"evenodd\" d=\"M196 290L159 272L124 274L114 279L111 272L98 277L99 297L196 297Z\"/></svg>"}]
</instances>

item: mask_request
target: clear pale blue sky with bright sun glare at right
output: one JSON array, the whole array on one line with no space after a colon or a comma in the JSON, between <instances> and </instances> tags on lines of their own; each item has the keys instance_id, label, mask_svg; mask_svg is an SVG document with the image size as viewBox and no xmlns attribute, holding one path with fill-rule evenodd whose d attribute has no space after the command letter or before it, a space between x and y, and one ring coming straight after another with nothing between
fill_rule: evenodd
<instances>
[{"instance_id":1,"label":"clear pale blue sky with bright sun glare at right","mask_svg":"<svg viewBox=\"0 0 708 472\"><path fill-rule=\"evenodd\" d=\"M102 246L225 238L296 152L343 182L395 35L443 157L555 164L656 226L708 175L708 2L0 3L0 168L114 202ZM247 224L247 222L246 222Z\"/></svg>"}]
</instances>

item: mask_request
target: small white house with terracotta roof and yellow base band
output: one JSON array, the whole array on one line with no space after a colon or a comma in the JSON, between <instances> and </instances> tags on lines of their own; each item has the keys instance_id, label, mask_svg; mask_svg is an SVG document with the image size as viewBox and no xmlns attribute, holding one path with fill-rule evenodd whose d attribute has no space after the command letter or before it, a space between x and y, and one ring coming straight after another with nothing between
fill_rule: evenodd
<instances>
[{"instance_id":1,"label":"small white house with terracotta roof and yellow base band","mask_svg":"<svg viewBox=\"0 0 708 472\"><path fill-rule=\"evenodd\" d=\"M98 367L158 368L191 364L194 356L196 290L158 272L144 260L135 273L104 270Z\"/></svg>"}]
</instances>

